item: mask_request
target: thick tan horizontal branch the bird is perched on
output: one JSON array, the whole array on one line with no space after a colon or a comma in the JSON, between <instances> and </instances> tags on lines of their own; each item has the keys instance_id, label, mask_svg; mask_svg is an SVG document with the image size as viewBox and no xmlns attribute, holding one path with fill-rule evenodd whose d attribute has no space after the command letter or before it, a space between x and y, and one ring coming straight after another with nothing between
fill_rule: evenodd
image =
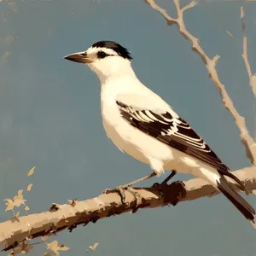
<instances>
[{"instance_id":1,"label":"thick tan horizontal branch the bird is perched on","mask_svg":"<svg viewBox=\"0 0 256 256\"><path fill-rule=\"evenodd\" d=\"M256 189L256 167L233 172L245 183L247 189ZM195 178L186 182L175 182L164 189L164 196L154 188L136 188L141 201L138 208L154 208L177 205L180 201L191 201L204 196L218 195L218 191L207 182ZM255 190L254 190L255 191ZM14 218L0 224L0 244L7 251L22 241L38 236L50 236L61 230L73 230L79 224L96 223L98 219L124 212L134 211L135 197L125 192L125 205L116 193L99 195L86 201L73 201L65 205L52 204L48 212Z\"/></svg>"}]
</instances>

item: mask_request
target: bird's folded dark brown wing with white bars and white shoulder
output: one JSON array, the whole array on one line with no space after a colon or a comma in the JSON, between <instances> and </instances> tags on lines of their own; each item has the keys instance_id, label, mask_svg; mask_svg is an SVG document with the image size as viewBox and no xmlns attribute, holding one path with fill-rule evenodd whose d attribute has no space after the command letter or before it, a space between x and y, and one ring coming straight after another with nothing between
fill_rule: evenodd
<instances>
[{"instance_id":1,"label":"bird's folded dark brown wing with white bars and white shoulder","mask_svg":"<svg viewBox=\"0 0 256 256\"><path fill-rule=\"evenodd\" d=\"M151 102L147 96L136 94L121 94L116 99L121 116L129 124L161 143L207 163L223 175L230 176L229 168L166 102L160 97L152 98Z\"/></svg>"}]
</instances>

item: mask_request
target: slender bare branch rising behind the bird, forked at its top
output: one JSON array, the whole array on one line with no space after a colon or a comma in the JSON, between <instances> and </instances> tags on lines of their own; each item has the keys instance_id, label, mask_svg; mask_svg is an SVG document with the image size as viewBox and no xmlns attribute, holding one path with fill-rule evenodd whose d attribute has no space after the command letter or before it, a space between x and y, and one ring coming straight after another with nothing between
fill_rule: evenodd
<instances>
[{"instance_id":1,"label":"slender bare branch rising behind the bird, forked at its top","mask_svg":"<svg viewBox=\"0 0 256 256\"><path fill-rule=\"evenodd\" d=\"M200 46L200 41L198 38L195 38L186 28L183 21L183 13L184 11L189 10L194 7L196 2L192 1L185 7L181 8L179 0L173 0L176 9L177 9L177 19L173 19L170 17L165 9L160 8L154 0L145 0L152 8L158 11L164 18L167 20L168 25L172 25L173 23L177 24L179 32L183 35L184 38L189 39L192 43L192 49L201 56L202 61L206 64L207 71L209 77L212 79L213 84L215 84L216 88L219 91L220 96L222 97L222 102L224 107L227 108L233 116L233 119L236 122L236 126L240 131L241 143L243 143L247 157L251 160L253 165L256 165L256 143L253 140L253 137L250 136L247 125L245 124L245 119L237 112L233 102L230 99L229 94L225 90L224 84L220 82L218 79L218 73L215 68L218 57L214 56L212 59L205 53L205 51ZM169 22L168 22L169 20ZM256 79L254 79L256 80ZM253 81L254 81L253 80Z\"/></svg>"}]
</instances>

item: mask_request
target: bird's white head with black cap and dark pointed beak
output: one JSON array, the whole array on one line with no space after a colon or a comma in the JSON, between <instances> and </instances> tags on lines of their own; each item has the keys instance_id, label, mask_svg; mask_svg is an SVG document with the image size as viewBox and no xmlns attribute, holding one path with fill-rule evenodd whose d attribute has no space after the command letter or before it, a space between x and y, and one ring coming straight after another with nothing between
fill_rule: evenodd
<instances>
[{"instance_id":1,"label":"bird's white head with black cap and dark pointed beak","mask_svg":"<svg viewBox=\"0 0 256 256\"><path fill-rule=\"evenodd\" d=\"M132 71L129 51L112 41L97 42L89 49L67 55L64 59L86 64L101 80L130 74Z\"/></svg>"}]
</instances>

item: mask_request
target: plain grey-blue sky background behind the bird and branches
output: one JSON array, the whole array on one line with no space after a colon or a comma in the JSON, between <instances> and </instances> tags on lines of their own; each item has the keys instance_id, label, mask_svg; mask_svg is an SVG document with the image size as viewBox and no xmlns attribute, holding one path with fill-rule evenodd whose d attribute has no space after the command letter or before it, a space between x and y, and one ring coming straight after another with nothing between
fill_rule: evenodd
<instances>
[{"instance_id":1,"label":"plain grey-blue sky background behind the bird and branches","mask_svg":"<svg viewBox=\"0 0 256 256\"><path fill-rule=\"evenodd\" d=\"M175 15L171 0L156 2ZM241 4L246 15L249 59L255 72L255 2L202 0L184 20L210 57L221 56L219 78L256 137L255 98L241 59ZM191 51L191 44L181 37L177 27L166 26L166 20L143 0L3 0L1 222L12 218L12 212L4 212L3 199L13 198L18 189L26 190L28 183L33 183L32 191L24 196L32 213L46 211L52 202L94 197L102 189L150 172L149 166L122 154L106 137L96 75L83 65L63 60L64 55L85 50L99 40L113 40L130 49L138 78L170 103L230 169L250 166L236 125L222 106L201 58ZM36 171L27 177L32 166L37 166ZM175 178L191 177L178 174ZM256 207L255 195L247 200ZM256 255L255 230L222 195L105 218L72 233L62 231L54 239L71 247L61 253L67 256ZM99 242L96 251L86 253L95 242ZM44 252L43 244L29 255Z\"/></svg>"}]
</instances>

